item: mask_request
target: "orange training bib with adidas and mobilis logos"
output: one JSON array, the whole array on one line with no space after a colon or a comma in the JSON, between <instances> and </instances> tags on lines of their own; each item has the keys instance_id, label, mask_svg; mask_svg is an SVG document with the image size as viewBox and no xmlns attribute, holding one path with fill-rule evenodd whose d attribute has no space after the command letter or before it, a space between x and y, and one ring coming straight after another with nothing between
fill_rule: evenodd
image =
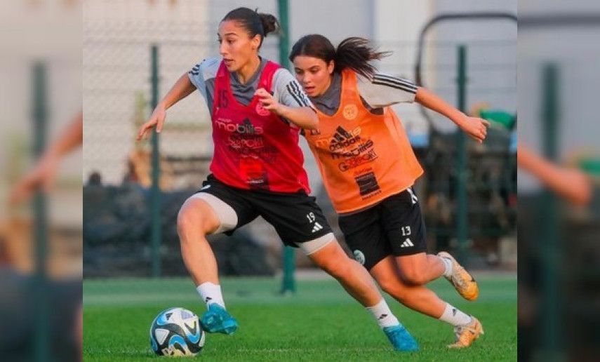
<instances>
[{"instance_id":1,"label":"orange training bib with adidas and mobilis logos","mask_svg":"<svg viewBox=\"0 0 600 362\"><path fill-rule=\"evenodd\" d=\"M422 175L396 114L390 107L382 115L369 112L352 70L342 71L338 111L333 116L317 113L319 127L305 130L305 138L338 213L378 203L411 187Z\"/></svg>"}]
</instances>

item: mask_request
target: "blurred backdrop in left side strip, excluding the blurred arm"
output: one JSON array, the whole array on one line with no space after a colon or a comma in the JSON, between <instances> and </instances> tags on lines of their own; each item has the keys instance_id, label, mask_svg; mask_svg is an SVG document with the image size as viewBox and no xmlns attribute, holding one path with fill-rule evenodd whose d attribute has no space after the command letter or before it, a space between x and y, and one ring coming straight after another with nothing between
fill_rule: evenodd
<instances>
[{"instance_id":1,"label":"blurred backdrop in left side strip, excluding the blurred arm","mask_svg":"<svg viewBox=\"0 0 600 362\"><path fill-rule=\"evenodd\" d=\"M23 183L81 112L81 9L67 0L0 4L0 320L10 326L0 333L4 361L74 361L81 354L81 147L55 163L50 192ZM17 185L33 194L10 203Z\"/></svg>"}]
</instances>

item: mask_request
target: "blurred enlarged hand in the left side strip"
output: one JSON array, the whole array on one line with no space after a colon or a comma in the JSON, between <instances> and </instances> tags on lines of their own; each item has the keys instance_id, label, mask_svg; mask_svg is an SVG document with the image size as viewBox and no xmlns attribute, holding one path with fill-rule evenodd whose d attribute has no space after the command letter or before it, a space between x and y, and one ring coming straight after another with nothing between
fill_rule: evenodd
<instances>
[{"instance_id":1,"label":"blurred enlarged hand in the left side strip","mask_svg":"<svg viewBox=\"0 0 600 362\"><path fill-rule=\"evenodd\" d=\"M44 154L35 168L15 185L9 201L12 204L20 203L30 199L36 189L41 188L44 192L53 189L59 161L60 157L53 152Z\"/></svg>"}]
</instances>

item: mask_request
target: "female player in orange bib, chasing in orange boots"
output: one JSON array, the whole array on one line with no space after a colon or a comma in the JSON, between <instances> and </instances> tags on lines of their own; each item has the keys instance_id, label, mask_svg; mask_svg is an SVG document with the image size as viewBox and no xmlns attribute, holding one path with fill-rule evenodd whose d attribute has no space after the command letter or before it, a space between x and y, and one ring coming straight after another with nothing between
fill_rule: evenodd
<instances>
[{"instance_id":1,"label":"female player in orange bib, chasing in orange boots","mask_svg":"<svg viewBox=\"0 0 600 362\"><path fill-rule=\"evenodd\" d=\"M396 300L454 326L455 343L448 347L468 347L483 333L481 323L424 285L445 276L467 300L475 300L479 288L450 254L426 253L425 224L411 189L423 170L389 106L419 102L479 142L489 123L411 81L375 72L368 62L385 55L361 38L345 39L337 49L318 34L294 44L289 58L296 79L319 114L319 126L305 130L305 138L356 260Z\"/></svg>"}]
</instances>

